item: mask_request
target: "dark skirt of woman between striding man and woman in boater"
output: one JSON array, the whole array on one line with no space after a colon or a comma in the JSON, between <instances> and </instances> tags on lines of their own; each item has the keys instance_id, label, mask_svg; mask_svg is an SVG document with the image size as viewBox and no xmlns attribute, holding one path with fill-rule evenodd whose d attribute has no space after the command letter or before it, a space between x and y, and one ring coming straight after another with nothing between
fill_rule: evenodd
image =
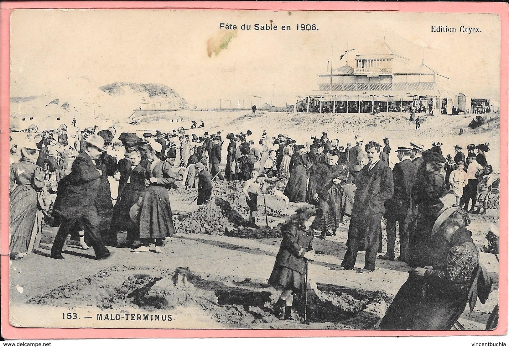
<instances>
[{"instance_id":1,"label":"dark skirt of woman between striding man and woman in boater","mask_svg":"<svg viewBox=\"0 0 509 347\"><path fill-rule=\"evenodd\" d=\"M113 217L111 219L110 234L117 233L120 230L127 230L127 239L135 240L139 238L138 223L133 222L129 216L131 207L138 202L142 192L130 189L126 185L119 194L119 198L113 208Z\"/></svg>"}]
</instances>

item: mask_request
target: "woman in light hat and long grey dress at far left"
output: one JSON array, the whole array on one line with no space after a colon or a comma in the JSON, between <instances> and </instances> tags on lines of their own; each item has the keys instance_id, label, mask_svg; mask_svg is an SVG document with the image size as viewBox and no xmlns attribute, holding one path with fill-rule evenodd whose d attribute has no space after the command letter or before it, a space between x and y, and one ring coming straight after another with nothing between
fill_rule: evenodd
<instances>
[{"instance_id":1,"label":"woman in light hat and long grey dress at far left","mask_svg":"<svg viewBox=\"0 0 509 347\"><path fill-rule=\"evenodd\" d=\"M31 248L37 247L33 240L36 236L34 231L40 230L42 222L37 216L37 192L45 185L44 173L35 163L38 156L36 144L21 142L17 144L17 148L21 158L19 162L11 165L9 174L9 188L12 191L9 195L9 253L13 260L21 260L30 253Z\"/></svg>"}]
</instances>

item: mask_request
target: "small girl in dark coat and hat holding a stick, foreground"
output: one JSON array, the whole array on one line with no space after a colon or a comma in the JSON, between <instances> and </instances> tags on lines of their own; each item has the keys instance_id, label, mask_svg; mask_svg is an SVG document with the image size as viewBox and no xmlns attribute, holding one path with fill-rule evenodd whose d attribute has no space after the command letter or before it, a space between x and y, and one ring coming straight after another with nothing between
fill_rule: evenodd
<instances>
[{"instance_id":1,"label":"small girl in dark coat and hat holding a stick, foreground","mask_svg":"<svg viewBox=\"0 0 509 347\"><path fill-rule=\"evenodd\" d=\"M268 282L282 290L274 305L274 314L281 316L284 313L284 319L292 317L293 293L305 290L306 260L314 259L311 246L314 233L309 227L315 220L317 208L307 205L295 212L296 215L281 226L283 239Z\"/></svg>"}]
</instances>

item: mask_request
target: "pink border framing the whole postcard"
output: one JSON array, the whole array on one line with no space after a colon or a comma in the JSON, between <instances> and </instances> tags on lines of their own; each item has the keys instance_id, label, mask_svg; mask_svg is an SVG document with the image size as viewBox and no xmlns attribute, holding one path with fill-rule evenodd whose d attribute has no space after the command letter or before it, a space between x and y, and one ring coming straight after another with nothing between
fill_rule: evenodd
<instances>
[{"instance_id":1,"label":"pink border framing the whole postcard","mask_svg":"<svg viewBox=\"0 0 509 347\"><path fill-rule=\"evenodd\" d=\"M370 330L239 330L239 329L108 329L16 328L9 324L9 41L10 14L15 9L187 9L283 11L400 11L496 13L501 21L500 95L500 277L499 325L493 331L370 331ZM506 3L466 2L3 2L0 4L0 274L2 335L8 339L142 338L142 337L336 337L336 336L457 336L507 333L507 87L508 18Z\"/></svg>"}]
</instances>

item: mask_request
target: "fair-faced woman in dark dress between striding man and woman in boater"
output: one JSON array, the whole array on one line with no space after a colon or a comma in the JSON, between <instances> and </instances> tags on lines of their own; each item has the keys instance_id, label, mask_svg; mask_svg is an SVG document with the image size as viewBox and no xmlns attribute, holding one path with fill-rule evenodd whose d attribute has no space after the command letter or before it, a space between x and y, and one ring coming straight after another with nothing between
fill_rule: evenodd
<instances>
[{"instance_id":1,"label":"fair-faced woman in dark dress between striding man and woman in boater","mask_svg":"<svg viewBox=\"0 0 509 347\"><path fill-rule=\"evenodd\" d=\"M121 171L119 197L113 210L111 233L127 230L127 240L137 241L139 238L138 223L129 217L131 207L138 202L145 191L145 168L140 165L142 154L137 149L129 149L126 153L128 167Z\"/></svg>"}]
</instances>

